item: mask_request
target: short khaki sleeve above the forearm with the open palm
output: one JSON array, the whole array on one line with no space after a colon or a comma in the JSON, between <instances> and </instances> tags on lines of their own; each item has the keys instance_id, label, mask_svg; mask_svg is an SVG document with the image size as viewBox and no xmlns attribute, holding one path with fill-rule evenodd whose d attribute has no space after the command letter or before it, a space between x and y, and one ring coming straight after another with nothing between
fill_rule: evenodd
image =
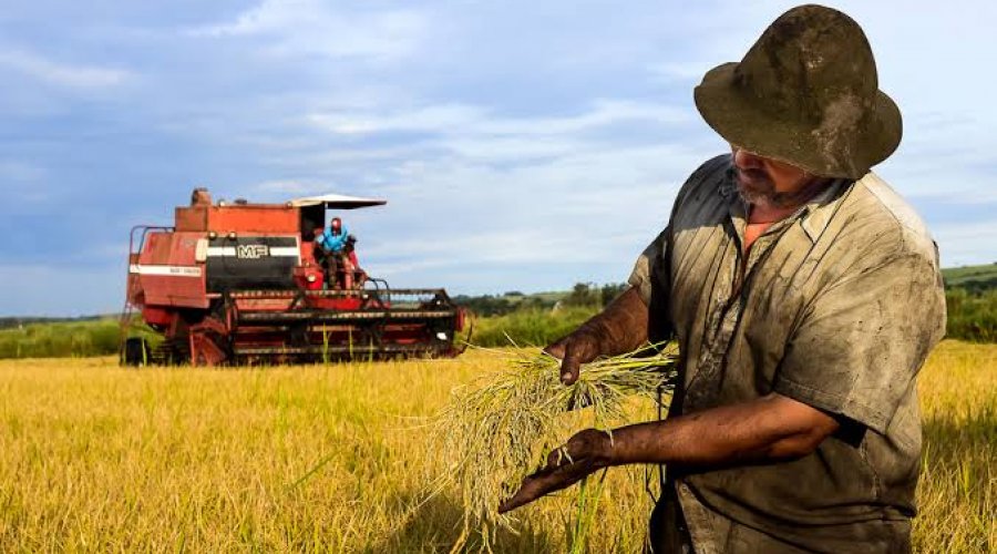
<instances>
[{"instance_id":1,"label":"short khaki sleeve above the forearm with the open palm","mask_svg":"<svg viewBox=\"0 0 997 554\"><path fill-rule=\"evenodd\" d=\"M818 296L790 339L775 392L882 434L945 331L936 266L906 254Z\"/></svg>"}]
</instances>

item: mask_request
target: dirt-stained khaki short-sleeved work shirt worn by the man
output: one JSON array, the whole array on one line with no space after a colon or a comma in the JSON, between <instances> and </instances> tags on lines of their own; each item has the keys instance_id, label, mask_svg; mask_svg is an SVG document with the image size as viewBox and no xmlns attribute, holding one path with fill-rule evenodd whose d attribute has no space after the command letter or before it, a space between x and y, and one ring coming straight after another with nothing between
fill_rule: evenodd
<instances>
[{"instance_id":1,"label":"dirt-stained khaki short-sleeved work shirt worn by the man","mask_svg":"<svg viewBox=\"0 0 997 554\"><path fill-rule=\"evenodd\" d=\"M707 162L629 283L674 334L670 412L777 392L841 430L799 460L669 471L696 552L905 552L921 456L914 378L945 329L937 249L875 174L837 181L742 253L730 156Z\"/></svg>"}]
</instances>

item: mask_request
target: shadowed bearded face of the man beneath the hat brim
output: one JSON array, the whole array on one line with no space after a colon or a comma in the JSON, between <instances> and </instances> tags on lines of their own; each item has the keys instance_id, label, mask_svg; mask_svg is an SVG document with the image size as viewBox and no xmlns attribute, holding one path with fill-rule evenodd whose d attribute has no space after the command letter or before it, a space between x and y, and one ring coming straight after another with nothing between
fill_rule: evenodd
<instances>
[{"instance_id":1,"label":"shadowed bearded face of the man beneath the hat brim","mask_svg":"<svg viewBox=\"0 0 997 554\"><path fill-rule=\"evenodd\" d=\"M738 192L751 205L792 207L805 201L815 182L824 181L785 162L753 154L731 144Z\"/></svg>"}]
</instances>

